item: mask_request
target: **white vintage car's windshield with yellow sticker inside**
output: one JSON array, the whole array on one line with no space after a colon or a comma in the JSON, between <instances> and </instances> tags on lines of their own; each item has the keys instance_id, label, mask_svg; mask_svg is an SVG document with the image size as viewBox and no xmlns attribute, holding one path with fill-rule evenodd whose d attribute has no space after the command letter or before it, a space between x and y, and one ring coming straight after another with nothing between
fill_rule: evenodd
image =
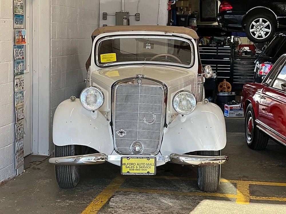
<instances>
[{"instance_id":1,"label":"white vintage car's windshield with yellow sticker inside","mask_svg":"<svg viewBox=\"0 0 286 214\"><path fill-rule=\"evenodd\" d=\"M98 65L160 63L191 66L193 48L190 41L177 37L121 36L108 37L96 46Z\"/></svg>"}]
</instances>

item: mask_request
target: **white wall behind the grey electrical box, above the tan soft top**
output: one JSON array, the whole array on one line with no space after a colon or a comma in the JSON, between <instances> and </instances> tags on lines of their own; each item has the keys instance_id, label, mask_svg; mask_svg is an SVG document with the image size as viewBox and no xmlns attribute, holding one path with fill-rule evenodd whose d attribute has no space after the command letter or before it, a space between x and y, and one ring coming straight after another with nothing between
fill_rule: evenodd
<instances>
[{"instance_id":1,"label":"white wall behind the grey electrical box, above the tan soft top","mask_svg":"<svg viewBox=\"0 0 286 214\"><path fill-rule=\"evenodd\" d=\"M140 1L139 5L138 1ZM130 25L157 25L158 23L167 25L167 3L167 0L125 0L124 10L129 11L130 14L140 13L140 21L136 21L135 16L129 17ZM121 0L100 0L100 27L115 25L115 16L113 15L108 15L107 20L102 20L103 12L115 14L120 11Z\"/></svg>"}]
</instances>

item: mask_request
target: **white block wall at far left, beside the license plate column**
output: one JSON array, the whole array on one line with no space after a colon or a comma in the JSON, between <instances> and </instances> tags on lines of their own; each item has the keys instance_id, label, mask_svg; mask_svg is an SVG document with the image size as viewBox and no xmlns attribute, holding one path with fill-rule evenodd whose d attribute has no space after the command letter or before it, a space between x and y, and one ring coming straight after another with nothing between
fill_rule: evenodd
<instances>
[{"instance_id":1,"label":"white block wall at far left, beside the license plate column","mask_svg":"<svg viewBox=\"0 0 286 214\"><path fill-rule=\"evenodd\" d=\"M0 0L0 183L16 175L13 1Z\"/></svg>"}]
</instances>

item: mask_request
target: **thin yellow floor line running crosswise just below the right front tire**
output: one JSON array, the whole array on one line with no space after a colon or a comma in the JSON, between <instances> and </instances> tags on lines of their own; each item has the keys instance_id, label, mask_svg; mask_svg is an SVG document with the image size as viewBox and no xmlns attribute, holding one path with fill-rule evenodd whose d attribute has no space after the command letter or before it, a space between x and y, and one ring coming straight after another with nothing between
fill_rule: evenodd
<instances>
[{"instance_id":1,"label":"thin yellow floor line running crosswise just below the right front tire","mask_svg":"<svg viewBox=\"0 0 286 214\"><path fill-rule=\"evenodd\" d=\"M141 193L158 193L158 194L167 194L167 195L214 196L214 197L225 197L225 198L236 198L237 197L237 195L234 195L234 194L207 193L207 192L178 192L178 191L167 191L167 190L156 190L156 189L119 188L118 191L141 192Z\"/></svg>"}]
</instances>

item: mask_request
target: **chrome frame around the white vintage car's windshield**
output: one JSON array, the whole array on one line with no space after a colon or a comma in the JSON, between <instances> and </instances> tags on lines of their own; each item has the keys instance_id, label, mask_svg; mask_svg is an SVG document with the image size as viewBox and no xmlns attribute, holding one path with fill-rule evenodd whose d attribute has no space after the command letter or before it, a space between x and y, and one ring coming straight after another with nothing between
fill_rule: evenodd
<instances>
[{"instance_id":1,"label":"chrome frame around the white vintage car's windshield","mask_svg":"<svg viewBox=\"0 0 286 214\"><path fill-rule=\"evenodd\" d=\"M110 62L110 63L106 63L106 64L100 64L99 61L98 61L98 47L99 47L99 44L104 41L104 40L108 40L108 39L121 39L121 38L154 38L154 39L176 39L176 40L180 40L180 41L184 41L184 42L187 42L190 44L190 47L191 47L191 56L192 56L192 59L191 59L191 64L189 65L184 65L184 64L180 64L180 63L174 63L174 62L159 62L159 61L131 61L131 62ZM173 66L180 66L180 67L184 67L184 68L191 68L192 66L194 66L194 45L187 39L183 39L183 38L180 38L180 37L170 37L170 36L140 36L140 35L135 35L135 36L111 36L111 37L104 37L100 40L97 41L97 44L96 44L96 55L95 55L95 58L96 58L96 64L99 66L99 67L106 67L106 66L116 66L116 65L128 65L128 64L160 64L160 65L173 65Z\"/></svg>"}]
</instances>

